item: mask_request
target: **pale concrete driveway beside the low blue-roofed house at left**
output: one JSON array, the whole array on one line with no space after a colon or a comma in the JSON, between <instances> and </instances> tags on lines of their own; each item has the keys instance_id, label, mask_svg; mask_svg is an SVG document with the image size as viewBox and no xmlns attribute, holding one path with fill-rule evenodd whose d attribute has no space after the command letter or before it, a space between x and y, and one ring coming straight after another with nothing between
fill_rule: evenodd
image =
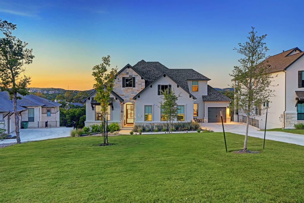
<instances>
[{"instance_id":1,"label":"pale concrete driveway beside the low blue-roofed house at left","mask_svg":"<svg viewBox=\"0 0 304 203\"><path fill-rule=\"evenodd\" d=\"M73 128L66 128L66 127L58 127L58 128L27 128L27 129L20 129L20 139L21 142L27 141L35 141L35 140L47 140L52 138L58 137L69 137L70 131ZM11 135L15 135L11 133ZM14 143L16 139L7 139L0 141L2 143Z\"/></svg>"}]
</instances>

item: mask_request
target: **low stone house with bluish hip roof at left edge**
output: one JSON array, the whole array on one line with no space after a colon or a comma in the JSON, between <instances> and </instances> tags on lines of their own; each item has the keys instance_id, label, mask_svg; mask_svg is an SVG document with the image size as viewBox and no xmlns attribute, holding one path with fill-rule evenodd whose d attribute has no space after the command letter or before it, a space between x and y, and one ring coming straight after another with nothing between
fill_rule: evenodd
<instances>
[{"instance_id":1,"label":"low stone house with bluish hip roof at left edge","mask_svg":"<svg viewBox=\"0 0 304 203\"><path fill-rule=\"evenodd\" d=\"M17 110L19 113L20 122L28 121L29 128L44 127L44 123L52 121L59 122L59 104L45 98L38 97L33 94L20 96L22 99L17 100ZM15 131L15 116L13 110L13 101L9 98L7 92L0 92L0 123L2 127L8 130L7 132ZM55 123L56 124L56 123ZM21 123L20 123L21 126Z\"/></svg>"}]
</instances>

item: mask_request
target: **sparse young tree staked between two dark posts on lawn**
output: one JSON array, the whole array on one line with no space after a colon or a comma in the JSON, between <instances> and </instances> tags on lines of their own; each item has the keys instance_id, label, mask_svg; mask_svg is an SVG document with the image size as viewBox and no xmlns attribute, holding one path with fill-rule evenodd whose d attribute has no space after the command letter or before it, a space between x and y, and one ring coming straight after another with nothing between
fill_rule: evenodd
<instances>
[{"instance_id":1,"label":"sparse young tree staked between two dark posts on lawn","mask_svg":"<svg viewBox=\"0 0 304 203\"><path fill-rule=\"evenodd\" d=\"M273 78L269 73L270 67L268 62L263 62L268 51L266 43L263 42L266 34L257 36L256 33L252 27L247 37L248 41L244 44L239 43L239 48L234 48L244 57L238 60L240 66L234 66L230 74L236 80L232 87L235 89L235 97L238 101L233 103L233 106L237 106L240 112L247 115L244 151L247 150L249 117L254 114L257 106L274 96L274 91L269 89ZM262 111L264 112L264 109Z\"/></svg>"}]
</instances>

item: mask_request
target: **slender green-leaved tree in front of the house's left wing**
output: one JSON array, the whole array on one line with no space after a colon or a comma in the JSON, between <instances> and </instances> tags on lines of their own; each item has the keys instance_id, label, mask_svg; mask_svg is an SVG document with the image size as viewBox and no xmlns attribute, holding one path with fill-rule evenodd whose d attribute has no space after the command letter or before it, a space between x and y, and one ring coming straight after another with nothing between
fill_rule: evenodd
<instances>
[{"instance_id":1,"label":"slender green-leaved tree in front of the house's left wing","mask_svg":"<svg viewBox=\"0 0 304 203\"><path fill-rule=\"evenodd\" d=\"M109 99L111 91L114 87L115 75L117 73L117 66L108 71L110 67L110 56L102 57L102 63L93 67L92 76L95 78L94 88L96 90L96 96L94 99L100 103L101 112L103 114L103 144L108 142L108 137L105 138L105 118L108 110Z\"/></svg>"}]
</instances>

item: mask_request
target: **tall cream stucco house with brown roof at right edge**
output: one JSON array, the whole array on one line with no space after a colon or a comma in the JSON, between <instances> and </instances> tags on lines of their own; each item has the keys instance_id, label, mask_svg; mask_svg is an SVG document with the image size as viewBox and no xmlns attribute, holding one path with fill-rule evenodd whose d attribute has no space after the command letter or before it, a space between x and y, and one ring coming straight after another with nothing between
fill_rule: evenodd
<instances>
[{"instance_id":1,"label":"tall cream stucco house with brown roof at right edge","mask_svg":"<svg viewBox=\"0 0 304 203\"><path fill-rule=\"evenodd\" d=\"M304 123L304 52L296 47L266 61L274 77L270 88L275 97L257 106L253 118L258 120L259 128L265 128L266 115L261 115L261 109L267 106L267 129L294 128L294 124Z\"/></svg>"}]
</instances>

